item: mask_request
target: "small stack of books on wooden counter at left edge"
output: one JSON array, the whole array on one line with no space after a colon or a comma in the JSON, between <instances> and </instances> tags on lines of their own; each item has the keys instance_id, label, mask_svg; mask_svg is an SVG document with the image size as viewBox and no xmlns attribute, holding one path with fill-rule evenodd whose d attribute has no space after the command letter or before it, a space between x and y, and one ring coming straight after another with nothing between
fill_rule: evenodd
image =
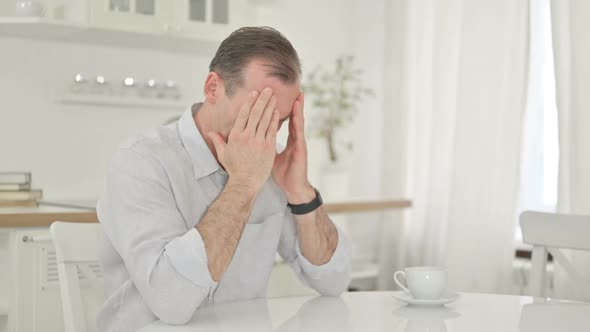
<instances>
[{"instance_id":1,"label":"small stack of books on wooden counter at left edge","mask_svg":"<svg viewBox=\"0 0 590 332\"><path fill-rule=\"evenodd\" d=\"M0 172L0 208L37 206L43 191L31 183L30 172Z\"/></svg>"}]
</instances>

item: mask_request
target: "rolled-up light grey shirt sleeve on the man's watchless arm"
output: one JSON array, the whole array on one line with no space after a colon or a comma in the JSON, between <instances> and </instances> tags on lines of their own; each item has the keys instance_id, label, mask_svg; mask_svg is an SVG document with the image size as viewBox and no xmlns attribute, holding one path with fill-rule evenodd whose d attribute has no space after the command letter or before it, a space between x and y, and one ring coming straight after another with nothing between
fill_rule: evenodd
<instances>
[{"instance_id":1,"label":"rolled-up light grey shirt sleeve on the man's watchless arm","mask_svg":"<svg viewBox=\"0 0 590 332\"><path fill-rule=\"evenodd\" d=\"M154 315L169 324L190 320L216 283L203 240L195 228L187 229L159 161L119 149L98 217Z\"/></svg>"}]
</instances>

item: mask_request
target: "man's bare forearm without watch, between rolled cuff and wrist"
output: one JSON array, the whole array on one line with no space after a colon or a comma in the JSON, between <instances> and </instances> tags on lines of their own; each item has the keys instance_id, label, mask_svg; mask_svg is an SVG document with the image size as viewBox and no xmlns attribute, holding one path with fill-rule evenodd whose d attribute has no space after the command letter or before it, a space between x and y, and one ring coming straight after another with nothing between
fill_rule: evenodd
<instances>
[{"instance_id":1,"label":"man's bare forearm without watch, between rolled cuff and wrist","mask_svg":"<svg viewBox=\"0 0 590 332\"><path fill-rule=\"evenodd\" d=\"M231 262L255 198L256 192L230 179L196 226L205 243L209 273L216 282Z\"/></svg>"}]
</instances>

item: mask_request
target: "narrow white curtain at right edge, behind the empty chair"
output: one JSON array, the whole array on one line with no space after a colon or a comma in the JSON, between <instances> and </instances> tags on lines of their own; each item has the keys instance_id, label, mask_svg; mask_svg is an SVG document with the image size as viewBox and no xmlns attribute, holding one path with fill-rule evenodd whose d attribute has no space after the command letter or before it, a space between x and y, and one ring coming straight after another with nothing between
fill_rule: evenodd
<instances>
[{"instance_id":1,"label":"narrow white curtain at right edge, behind the empty chair","mask_svg":"<svg viewBox=\"0 0 590 332\"><path fill-rule=\"evenodd\" d=\"M590 1L551 1L559 122L558 210L585 215L590 215L589 18ZM575 252L570 258L578 272L590 280L590 255ZM555 275L554 296L579 296L559 268Z\"/></svg>"}]
</instances>

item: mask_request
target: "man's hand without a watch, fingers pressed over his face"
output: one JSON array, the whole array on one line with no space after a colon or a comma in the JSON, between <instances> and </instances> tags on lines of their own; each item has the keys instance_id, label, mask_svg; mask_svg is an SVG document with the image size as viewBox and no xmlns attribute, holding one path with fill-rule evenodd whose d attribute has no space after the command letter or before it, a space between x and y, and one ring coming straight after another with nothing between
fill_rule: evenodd
<instances>
[{"instance_id":1,"label":"man's hand without a watch, fingers pressed over his face","mask_svg":"<svg viewBox=\"0 0 590 332\"><path fill-rule=\"evenodd\" d=\"M257 98L258 97L258 98ZM266 88L253 91L240 109L227 143L219 133L210 132L217 159L229 175L229 182L257 193L270 176L279 128L276 97Z\"/></svg>"}]
</instances>

